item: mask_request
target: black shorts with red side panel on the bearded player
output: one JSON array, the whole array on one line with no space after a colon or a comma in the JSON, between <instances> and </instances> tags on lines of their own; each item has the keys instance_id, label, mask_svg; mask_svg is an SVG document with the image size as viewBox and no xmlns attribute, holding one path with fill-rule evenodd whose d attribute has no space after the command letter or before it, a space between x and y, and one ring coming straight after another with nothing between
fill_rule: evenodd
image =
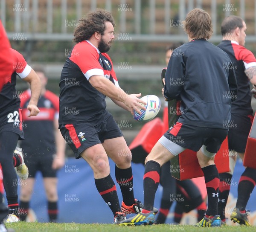
<instances>
[{"instance_id":1,"label":"black shorts with red side panel on the bearded player","mask_svg":"<svg viewBox=\"0 0 256 232\"><path fill-rule=\"evenodd\" d=\"M105 139L123 136L111 113L104 113L102 122L96 124L82 122L76 124L59 125L62 136L73 150L76 159L86 148L102 143Z\"/></svg>"}]
</instances>

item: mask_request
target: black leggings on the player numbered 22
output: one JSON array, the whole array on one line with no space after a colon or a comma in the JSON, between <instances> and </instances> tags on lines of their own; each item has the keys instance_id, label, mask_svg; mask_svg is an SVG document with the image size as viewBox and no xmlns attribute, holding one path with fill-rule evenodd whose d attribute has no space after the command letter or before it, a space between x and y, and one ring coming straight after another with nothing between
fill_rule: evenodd
<instances>
[{"instance_id":1,"label":"black leggings on the player numbered 22","mask_svg":"<svg viewBox=\"0 0 256 232\"><path fill-rule=\"evenodd\" d=\"M0 133L0 163L3 170L3 186L6 198L17 197L18 178L13 166L12 154L17 146L19 135L11 131Z\"/></svg>"}]
</instances>

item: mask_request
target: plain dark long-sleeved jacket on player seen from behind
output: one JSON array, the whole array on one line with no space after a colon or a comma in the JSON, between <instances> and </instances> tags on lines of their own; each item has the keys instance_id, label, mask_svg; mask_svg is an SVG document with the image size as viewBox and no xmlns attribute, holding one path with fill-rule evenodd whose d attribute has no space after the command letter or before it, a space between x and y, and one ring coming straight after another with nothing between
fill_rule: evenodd
<instances>
[{"instance_id":1,"label":"plain dark long-sleeved jacket on player seen from behind","mask_svg":"<svg viewBox=\"0 0 256 232\"><path fill-rule=\"evenodd\" d=\"M235 73L229 65L227 53L205 39L190 41L172 52L164 95L169 100L181 100L178 122L228 129L231 99L237 91Z\"/></svg>"}]
</instances>

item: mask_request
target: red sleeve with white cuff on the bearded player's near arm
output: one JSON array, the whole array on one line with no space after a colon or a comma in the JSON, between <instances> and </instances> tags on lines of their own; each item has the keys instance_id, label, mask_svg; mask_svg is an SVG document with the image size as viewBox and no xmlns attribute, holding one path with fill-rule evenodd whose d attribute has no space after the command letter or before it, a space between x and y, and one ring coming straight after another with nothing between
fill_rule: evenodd
<instances>
[{"instance_id":1,"label":"red sleeve with white cuff on the bearded player's near arm","mask_svg":"<svg viewBox=\"0 0 256 232\"><path fill-rule=\"evenodd\" d=\"M87 79L92 75L104 75L103 68L99 64L99 53L87 41L73 47L70 60L78 65Z\"/></svg>"}]
</instances>

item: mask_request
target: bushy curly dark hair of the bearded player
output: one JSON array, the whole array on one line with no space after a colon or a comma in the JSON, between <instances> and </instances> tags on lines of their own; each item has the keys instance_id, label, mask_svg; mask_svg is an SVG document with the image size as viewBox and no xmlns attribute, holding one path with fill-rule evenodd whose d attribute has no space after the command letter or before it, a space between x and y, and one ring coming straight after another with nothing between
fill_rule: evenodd
<instances>
[{"instance_id":1,"label":"bushy curly dark hair of the bearded player","mask_svg":"<svg viewBox=\"0 0 256 232\"><path fill-rule=\"evenodd\" d=\"M79 25L74 30L73 41L79 43L88 40L95 32L104 35L105 22L111 22L113 26L116 26L112 14L104 9L96 9L85 17L81 17Z\"/></svg>"}]
</instances>

